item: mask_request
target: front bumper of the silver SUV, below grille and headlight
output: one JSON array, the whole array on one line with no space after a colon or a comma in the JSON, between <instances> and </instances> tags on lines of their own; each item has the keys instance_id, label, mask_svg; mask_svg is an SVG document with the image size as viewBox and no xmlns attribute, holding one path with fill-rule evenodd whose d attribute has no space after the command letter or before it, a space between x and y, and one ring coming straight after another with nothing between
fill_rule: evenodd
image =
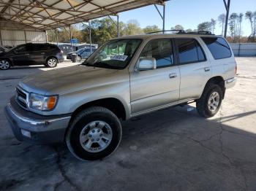
<instances>
[{"instance_id":1,"label":"front bumper of the silver SUV, below grille and headlight","mask_svg":"<svg viewBox=\"0 0 256 191\"><path fill-rule=\"evenodd\" d=\"M48 144L64 141L71 116L42 116L20 108L11 100L4 109L12 132L19 141Z\"/></svg>"}]
</instances>

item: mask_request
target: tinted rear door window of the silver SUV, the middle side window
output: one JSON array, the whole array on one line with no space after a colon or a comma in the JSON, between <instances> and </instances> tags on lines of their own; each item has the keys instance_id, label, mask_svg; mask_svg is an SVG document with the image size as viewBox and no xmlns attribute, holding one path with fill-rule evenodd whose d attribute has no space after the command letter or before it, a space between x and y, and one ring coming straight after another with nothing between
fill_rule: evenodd
<instances>
[{"instance_id":1,"label":"tinted rear door window of the silver SUV, the middle side window","mask_svg":"<svg viewBox=\"0 0 256 191\"><path fill-rule=\"evenodd\" d=\"M202 48L195 39L175 39L180 63L206 61Z\"/></svg>"}]
</instances>

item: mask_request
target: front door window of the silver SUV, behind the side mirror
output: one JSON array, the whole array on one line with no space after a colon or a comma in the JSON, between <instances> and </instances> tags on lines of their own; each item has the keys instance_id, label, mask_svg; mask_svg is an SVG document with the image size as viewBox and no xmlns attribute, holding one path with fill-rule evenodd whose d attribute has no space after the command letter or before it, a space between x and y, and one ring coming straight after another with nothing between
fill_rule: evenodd
<instances>
[{"instance_id":1,"label":"front door window of the silver SUV, behind the side mirror","mask_svg":"<svg viewBox=\"0 0 256 191\"><path fill-rule=\"evenodd\" d=\"M173 46L171 39L154 39L146 44L140 58L155 58L157 69L173 65Z\"/></svg>"}]
</instances>

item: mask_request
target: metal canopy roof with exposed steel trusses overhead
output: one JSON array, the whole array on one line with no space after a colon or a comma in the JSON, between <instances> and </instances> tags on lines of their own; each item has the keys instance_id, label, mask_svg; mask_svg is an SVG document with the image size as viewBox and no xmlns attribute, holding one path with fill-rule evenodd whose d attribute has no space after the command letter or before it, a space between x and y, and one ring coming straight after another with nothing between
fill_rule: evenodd
<instances>
[{"instance_id":1,"label":"metal canopy roof with exposed steel trusses overhead","mask_svg":"<svg viewBox=\"0 0 256 191\"><path fill-rule=\"evenodd\" d=\"M166 0L1 0L1 23L12 21L34 30L49 30L86 22L106 15L117 15ZM5 21L4 21L5 20Z\"/></svg>"}]
</instances>

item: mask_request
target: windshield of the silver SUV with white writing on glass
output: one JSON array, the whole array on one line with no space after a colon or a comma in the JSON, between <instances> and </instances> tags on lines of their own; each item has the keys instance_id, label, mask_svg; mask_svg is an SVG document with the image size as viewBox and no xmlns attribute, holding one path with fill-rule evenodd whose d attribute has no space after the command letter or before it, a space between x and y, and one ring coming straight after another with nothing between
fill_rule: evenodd
<instances>
[{"instance_id":1,"label":"windshield of the silver SUV with white writing on glass","mask_svg":"<svg viewBox=\"0 0 256 191\"><path fill-rule=\"evenodd\" d=\"M142 39L115 39L99 47L83 65L108 69L124 69L138 49Z\"/></svg>"}]
</instances>

